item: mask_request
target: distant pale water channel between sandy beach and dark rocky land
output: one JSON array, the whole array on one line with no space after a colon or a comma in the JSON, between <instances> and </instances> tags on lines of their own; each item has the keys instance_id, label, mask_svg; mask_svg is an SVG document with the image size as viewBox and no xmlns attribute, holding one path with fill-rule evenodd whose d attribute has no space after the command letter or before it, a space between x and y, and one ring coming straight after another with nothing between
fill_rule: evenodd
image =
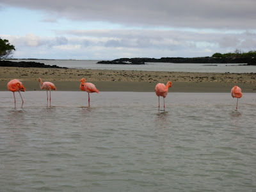
<instances>
[{"instance_id":1,"label":"distant pale water channel between sandy beach and dark rocky land","mask_svg":"<svg viewBox=\"0 0 256 192\"><path fill-rule=\"evenodd\" d=\"M96 64L96 60L12 60L35 61L45 65L57 65L68 68L106 69L106 70L144 70L168 72L217 72L217 73L251 73L256 72L255 66L236 63L146 63L146 65L107 65Z\"/></svg>"}]
</instances>

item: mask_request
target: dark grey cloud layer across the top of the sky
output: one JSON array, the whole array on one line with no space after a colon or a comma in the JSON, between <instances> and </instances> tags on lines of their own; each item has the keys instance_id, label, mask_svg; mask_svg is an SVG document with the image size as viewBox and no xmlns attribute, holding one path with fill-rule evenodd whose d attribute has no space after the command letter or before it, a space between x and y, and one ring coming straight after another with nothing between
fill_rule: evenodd
<instances>
[{"instance_id":1,"label":"dark grey cloud layer across the top of the sky","mask_svg":"<svg viewBox=\"0 0 256 192\"><path fill-rule=\"evenodd\" d=\"M70 20L100 20L127 26L255 29L256 18L256 1L252 0L63 0L61 3L2 0L1 3Z\"/></svg>"}]
</instances>

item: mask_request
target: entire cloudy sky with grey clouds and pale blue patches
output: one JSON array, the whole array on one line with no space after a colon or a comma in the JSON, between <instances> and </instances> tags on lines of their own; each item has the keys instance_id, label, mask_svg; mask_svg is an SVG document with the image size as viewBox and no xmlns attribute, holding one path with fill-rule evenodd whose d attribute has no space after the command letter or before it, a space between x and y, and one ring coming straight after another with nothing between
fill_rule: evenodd
<instances>
[{"instance_id":1,"label":"entire cloudy sky with grey clouds and pale blue patches","mask_svg":"<svg viewBox=\"0 0 256 192\"><path fill-rule=\"evenodd\" d=\"M112 60L256 50L255 0L0 0L13 58Z\"/></svg>"}]
</instances>

